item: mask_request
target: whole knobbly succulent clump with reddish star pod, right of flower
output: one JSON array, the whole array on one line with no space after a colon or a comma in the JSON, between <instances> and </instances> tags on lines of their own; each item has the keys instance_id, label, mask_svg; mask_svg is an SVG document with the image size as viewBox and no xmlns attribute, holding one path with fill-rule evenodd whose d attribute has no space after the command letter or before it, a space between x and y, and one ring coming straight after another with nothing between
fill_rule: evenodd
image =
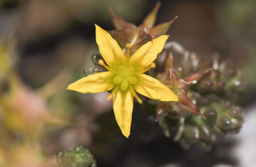
<instances>
[{"instance_id":1,"label":"whole knobbly succulent clump with reddish star pod, right of flower","mask_svg":"<svg viewBox=\"0 0 256 167\"><path fill-rule=\"evenodd\" d=\"M165 135L173 134L184 148L196 143L209 150L216 134L239 132L243 110L232 102L239 100L245 88L241 70L234 68L231 60L219 60L216 54L203 60L176 42L167 43L166 48L157 62L165 63L165 69L156 69L155 75L179 101L158 104L157 120ZM180 58L176 67L173 52Z\"/></svg>"}]
</instances>

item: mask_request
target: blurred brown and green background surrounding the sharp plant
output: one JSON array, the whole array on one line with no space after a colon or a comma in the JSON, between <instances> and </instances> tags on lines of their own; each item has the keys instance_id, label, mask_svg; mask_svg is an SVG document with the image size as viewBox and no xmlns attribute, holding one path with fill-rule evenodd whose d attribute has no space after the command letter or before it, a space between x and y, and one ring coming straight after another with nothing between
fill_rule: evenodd
<instances>
[{"instance_id":1,"label":"blurred brown and green background surrounding the sharp plant","mask_svg":"<svg viewBox=\"0 0 256 167\"><path fill-rule=\"evenodd\" d=\"M108 92L65 90L93 65L91 55L98 53L94 24L114 29L108 7L139 25L156 3L0 0L0 166L56 166L56 152L78 144L91 150L99 167L256 166L255 0L161 1L156 24L178 16L168 41L203 57L218 52L244 71L245 123L238 135L219 138L209 152L195 146L184 150L163 134L139 135L161 133L156 123L146 132L132 128L126 139L106 100ZM141 117L134 116L132 124L143 124Z\"/></svg>"}]
</instances>

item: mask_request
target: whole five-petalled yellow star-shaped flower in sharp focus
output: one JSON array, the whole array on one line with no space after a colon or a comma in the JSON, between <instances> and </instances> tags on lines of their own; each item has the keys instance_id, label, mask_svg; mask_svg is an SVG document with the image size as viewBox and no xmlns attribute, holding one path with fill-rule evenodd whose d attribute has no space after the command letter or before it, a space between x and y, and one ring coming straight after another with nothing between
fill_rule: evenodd
<instances>
[{"instance_id":1,"label":"whole five-petalled yellow star-shaped flower in sharp focus","mask_svg":"<svg viewBox=\"0 0 256 167\"><path fill-rule=\"evenodd\" d=\"M99 60L99 64L108 71L83 77L70 84L67 89L82 93L97 93L113 89L107 99L110 100L113 96L113 109L117 124L123 135L128 138L132 121L133 97L142 103L135 91L151 99L178 101L178 97L167 86L143 74L150 68L155 68L153 61L162 51L169 36L162 35L149 41L132 56L129 55L128 45L125 56L117 41L108 32L96 24L95 27L99 52L108 65L102 59Z\"/></svg>"}]
</instances>

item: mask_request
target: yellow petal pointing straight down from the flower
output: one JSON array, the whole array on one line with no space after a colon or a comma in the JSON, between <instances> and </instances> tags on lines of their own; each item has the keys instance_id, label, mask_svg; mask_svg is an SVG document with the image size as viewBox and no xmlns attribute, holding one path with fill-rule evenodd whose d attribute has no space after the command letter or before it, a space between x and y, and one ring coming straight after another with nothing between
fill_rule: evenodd
<instances>
[{"instance_id":1,"label":"yellow petal pointing straight down from the flower","mask_svg":"<svg viewBox=\"0 0 256 167\"><path fill-rule=\"evenodd\" d=\"M113 96L113 109L123 135L129 137L132 122L133 95L129 90L118 90Z\"/></svg>"}]
</instances>

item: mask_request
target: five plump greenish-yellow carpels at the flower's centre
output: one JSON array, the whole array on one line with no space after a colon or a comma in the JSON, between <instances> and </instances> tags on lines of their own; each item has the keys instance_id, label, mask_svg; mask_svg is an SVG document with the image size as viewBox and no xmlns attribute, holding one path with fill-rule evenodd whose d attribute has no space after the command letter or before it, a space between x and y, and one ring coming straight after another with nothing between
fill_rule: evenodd
<instances>
[{"instance_id":1,"label":"five plump greenish-yellow carpels at the flower's centre","mask_svg":"<svg viewBox=\"0 0 256 167\"><path fill-rule=\"evenodd\" d=\"M138 79L134 75L135 67L124 67L124 65L120 65L118 67L118 74L113 78L114 84L120 84L120 88L122 91L126 91L129 87L129 84L136 84Z\"/></svg>"}]
</instances>

